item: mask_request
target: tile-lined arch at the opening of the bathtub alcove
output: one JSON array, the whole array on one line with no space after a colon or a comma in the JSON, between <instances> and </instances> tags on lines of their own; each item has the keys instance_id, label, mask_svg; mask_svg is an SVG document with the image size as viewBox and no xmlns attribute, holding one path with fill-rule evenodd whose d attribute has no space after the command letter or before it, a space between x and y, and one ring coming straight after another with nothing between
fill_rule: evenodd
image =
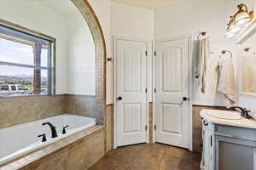
<instances>
[{"instance_id":1,"label":"tile-lined arch at the opening of the bathtub alcove","mask_svg":"<svg viewBox=\"0 0 256 170\"><path fill-rule=\"evenodd\" d=\"M105 122L105 104L106 104L106 58L107 49L103 36L102 26L96 17L94 10L87 0L71 0L90 28L96 48L96 122L104 124ZM84 77L85 78L85 77Z\"/></svg>"}]
</instances>

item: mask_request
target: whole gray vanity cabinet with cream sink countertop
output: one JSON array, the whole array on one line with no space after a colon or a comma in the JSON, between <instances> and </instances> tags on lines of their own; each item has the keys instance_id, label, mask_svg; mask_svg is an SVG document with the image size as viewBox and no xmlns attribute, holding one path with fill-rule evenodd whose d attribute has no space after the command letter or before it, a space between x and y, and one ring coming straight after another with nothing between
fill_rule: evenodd
<instances>
[{"instance_id":1,"label":"whole gray vanity cabinet with cream sink countertop","mask_svg":"<svg viewBox=\"0 0 256 170\"><path fill-rule=\"evenodd\" d=\"M201 111L204 170L256 170L256 122L236 111Z\"/></svg>"}]
</instances>

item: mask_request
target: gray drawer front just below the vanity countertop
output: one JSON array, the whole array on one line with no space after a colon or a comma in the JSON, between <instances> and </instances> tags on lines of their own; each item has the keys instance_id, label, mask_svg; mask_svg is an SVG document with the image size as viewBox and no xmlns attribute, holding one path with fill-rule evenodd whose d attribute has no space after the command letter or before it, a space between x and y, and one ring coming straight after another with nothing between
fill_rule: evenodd
<instances>
[{"instance_id":1,"label":"gray drawer front just below the vanity countertop","mask_svg":"<svg viewBox=\"0 0 256 170\"><path fill-rule=\"evenodd\" d=\"M215 133L230 138L256 141L256 130L251 128L215 125Z\"/></svg>"}]
</instances>

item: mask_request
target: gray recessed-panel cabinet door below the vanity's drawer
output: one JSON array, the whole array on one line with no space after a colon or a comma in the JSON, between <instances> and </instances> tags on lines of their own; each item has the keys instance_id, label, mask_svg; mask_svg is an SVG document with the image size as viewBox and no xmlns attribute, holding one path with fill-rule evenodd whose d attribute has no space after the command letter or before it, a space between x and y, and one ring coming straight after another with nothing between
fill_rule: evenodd
<instances>
[{"instance_id":1,"label":"gray recessed-panel cabinet door below the vanity's drawer","mask_svg":"<svg viewBox=\"0 0 256 170\"><path fill-rule=\"evenodd\" d=\"M255 142L218 136L216 144L217 170L256 170Z\"/></svg>"}]
</instances>

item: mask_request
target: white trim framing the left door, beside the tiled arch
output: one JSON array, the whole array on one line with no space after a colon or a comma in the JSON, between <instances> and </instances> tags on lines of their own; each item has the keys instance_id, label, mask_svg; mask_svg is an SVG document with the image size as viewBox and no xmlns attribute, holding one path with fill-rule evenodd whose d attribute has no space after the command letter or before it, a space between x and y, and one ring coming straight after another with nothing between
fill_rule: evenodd
<instances>
[{"instance_id":1,"label":"white trim framing the left door, beside the tiled arch","mask_svg":"<svg viewBox=\"0 0 256 170\"><path fill-rule=\"evenodd\" d=\"M116 149L117 146L117 64L116 64L116 43L118 40L126 40L126 41L135 41L135 42L146 42L147 51L148 51L148 58L152 57L152 51L149 48L150 40L148 39L142 39L142 38L135 38L135 37L124 37L124 36L113 36L113 149ZM147 59L147 88L148 88L148 61ZM149 89L148 89L149 92ZM146 105L146 125L147 125L147 131L146 131L146 139L145 141L149 143L149 93L146 94L147 96L147 105Z\"/></svg>"}]
</instances>

